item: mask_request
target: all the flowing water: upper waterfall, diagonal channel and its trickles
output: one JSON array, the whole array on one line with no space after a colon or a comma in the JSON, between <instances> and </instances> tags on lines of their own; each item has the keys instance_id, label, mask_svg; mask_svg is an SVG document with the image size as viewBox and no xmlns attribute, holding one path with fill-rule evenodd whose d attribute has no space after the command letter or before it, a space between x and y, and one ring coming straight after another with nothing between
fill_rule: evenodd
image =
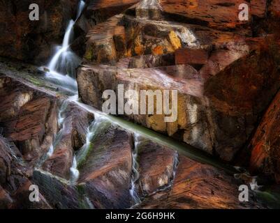
<instances>
[{"instance_id":1,"label":"all the flowing water: upper waterfall, diagonal channel and its trickles","mask_svg":"<svg viewBox=\"0 0 280 223\"><path fill-rule=\"evenodd\" d=\"M57 143L60 141L62 137L62 133L64 131L64 121L65 121L64 110L66 109L68 102L75 102L78 106L82 107L83 109L86 109L87 112L94 114L95 117L94 121L87 128L87 137L86 137L87 139L84 146L82 146L82 148L80 148L78 153L73 156L73 164L70 169L71 171L70 183L75 184L77 182L79 178L78 168L84 162L84 160L86 160L87 155L93 148L94 145L92 141L94 141L94 139L98 137L99 133L103 132L103 130L105 130L105 128L108 128L108 126L110 126L111 124L118 125L119 127L124 128L128 132L131 132L135 135L135 146L134 146L133 157L132 157L133 168L132 168L131 188L130 188L130 194L131 194L131 199L133 200L133 206L141 202L136 188L136 182L139 179L138 146L139 146L140 136L150 139L151 141L154 141L163 146L168 146L169 148L172 148L175 151L177 151L177 153L186 155L186 157L189 157L198 162L210 164L214 167L223 169L230 174L240 173L240 171L238 171L234 167L231 167L228 164L216 160L210 155L207 155L202 151L198 151L196 148L193 148L192 146L179 143L178 141L175 141L174 139L170 139L169 137L166 137L163 134L159 134L157 132L144 128L140 125L136 125L129 121L125 121L122 118L103 114L103 112L94 109L94 107L90 107L89 105L84 105L82 102L79 102L78 84L75 80L75 76L76 76L75 69L80 65L81 60L71 50L71 40L73 37L73 27L75 26L75 23L77 22L78 18L82 15L82 10L84 9L84 6L85 6L84 1L80 1L75 20L71 20L68 22L68 26L66 28L62 45L56 48L54 56L52 56L52 59L50 59L50 62L47 64L47 67L45 68L45 70L47 71L45 74L47 79L51 79L52 81L59 84L62 89L66 89L67 91L73 93L73 97L68 98L68 100L63 102L61 108L59 109L58 123L61 129L54 137L54 142L52 146L50 146L50 149L47 153L47 157L50 157L54 153L55 147L57 146ZM176 174L177 164L178 164L178 154L175 157L172 180L170 181L170 184L168 184L164 188L161 188L161 190L166 190L168 187L172 185ZM256 188L256 190L258 190L258 185L256 181L252 181L251 187ZM265 194L265 196L267 196L267 194ZM87 203L89 203L90 208L94 208L94 206L91 204L91 201L89 201L87 197L86 199L87 199L86 200Z\"/></svg>"}]
</instances>

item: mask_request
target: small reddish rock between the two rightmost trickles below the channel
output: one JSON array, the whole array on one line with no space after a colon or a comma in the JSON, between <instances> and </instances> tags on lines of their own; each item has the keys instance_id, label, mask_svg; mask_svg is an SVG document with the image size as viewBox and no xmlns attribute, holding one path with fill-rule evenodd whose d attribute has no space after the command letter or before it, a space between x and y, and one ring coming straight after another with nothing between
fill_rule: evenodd
<instances>
[{"instance_id":1,"label":"small reddish rock between the two rightmost trickles below the channel","mask_svg":"<svg viewBox=\"0 0 280 223\"><path fill-rule=\"evenodd\" d=\"M139 193L147 196L171 187L177 169L177 153L145 139L138 141L137 149Z\"/></svg>"}]
</instances>

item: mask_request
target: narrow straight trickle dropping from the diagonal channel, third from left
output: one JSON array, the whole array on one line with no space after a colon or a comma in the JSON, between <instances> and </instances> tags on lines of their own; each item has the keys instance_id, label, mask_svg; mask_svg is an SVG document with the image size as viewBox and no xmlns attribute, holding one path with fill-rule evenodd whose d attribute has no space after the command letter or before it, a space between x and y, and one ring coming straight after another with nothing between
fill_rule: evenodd
<instances>
[{"instance_id":1,"label":"narrow straight trickle dropping from the diagonal channel, third from left","mask_svg":"<svg viewBox=\"0 0 280 223\"><path fill-rule=\"evenodd\" d=\"M137 161L138 158L138 149L139 149L139 142L140 140L140 135L135 134L134 135L134 150L132 154L132 177L131 177L131 189L129 190L131 194L131 199L133 201L133 206L137 205L138 203L141 202L140 197L138 196L138 192L136 191L136 186L135 183L139 179L139 164Z\"/></svg>"}]
</instances>

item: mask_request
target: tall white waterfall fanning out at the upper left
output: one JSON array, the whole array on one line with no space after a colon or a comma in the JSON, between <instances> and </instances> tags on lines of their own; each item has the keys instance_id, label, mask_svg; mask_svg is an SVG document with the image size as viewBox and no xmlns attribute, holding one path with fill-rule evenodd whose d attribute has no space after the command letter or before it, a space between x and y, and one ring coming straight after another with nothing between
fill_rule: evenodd
<instances>
[{"instance_id":1,"label":"tall white waterfall fanning out at the upper left","mask_svg":"<svg viewBox=\"0 0 280 223\"><path fill-rule=\"evenodd\" d=\"M80 58L71 50L71 38L75 22L79 19L84 9L84 1L80 1L76 19L70 20L64 34L62 45L55 50L54 56L47 65L46 77L52 81L64 86L71 91L78 91L77 82L75 81L75 69L80 65Z\"/></svg>"}]
</instances>

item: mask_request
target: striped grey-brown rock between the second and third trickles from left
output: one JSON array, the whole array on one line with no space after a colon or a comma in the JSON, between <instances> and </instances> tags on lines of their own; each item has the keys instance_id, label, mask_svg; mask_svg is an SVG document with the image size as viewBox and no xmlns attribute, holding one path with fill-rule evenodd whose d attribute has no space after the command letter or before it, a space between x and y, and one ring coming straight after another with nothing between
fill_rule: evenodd
<instances>
[{"instance_id":1,"label":"striped grey-brown rock between the second and third trickles from left","mask_svg":"<svg viewBox=\"0 0 280 223\"><path fill-rule=\"evenodd\" d=\"M110 127L91 141L91 151L78 165L80 183L96 208L131 206L131 134Z\"/></svg>"}]
</instances>

